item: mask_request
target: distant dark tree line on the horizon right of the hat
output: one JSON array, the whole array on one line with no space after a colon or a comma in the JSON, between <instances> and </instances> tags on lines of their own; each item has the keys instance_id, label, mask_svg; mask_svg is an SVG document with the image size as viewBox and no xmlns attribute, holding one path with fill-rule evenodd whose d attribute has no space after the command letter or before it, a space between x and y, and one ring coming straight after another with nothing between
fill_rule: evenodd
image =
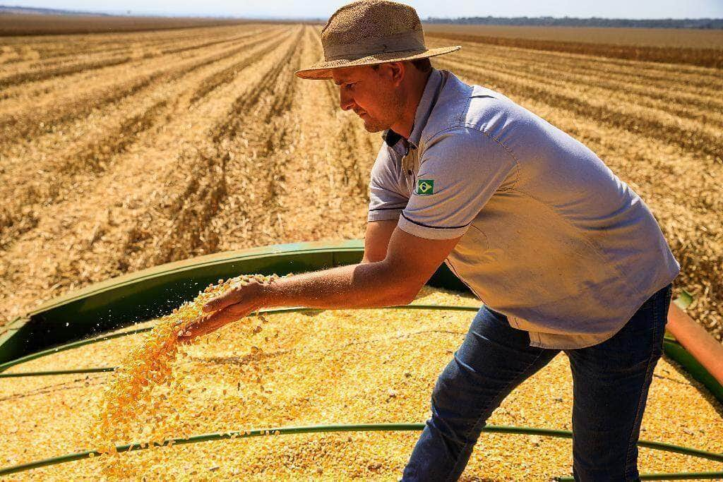
<instances>
[{"instance_id":1,"label":"distant dark tree line on the horizon right of the hat","mask_svg":"<svg viewBox=\"0 0 723 482\"><path fill-rule=\"evenodd\" d=\"M638 27L638 28L707 28L723 29L723 19L649 19L577 17L429 17L427 23L453 23L460 25L537 25L541 27Z\"/></svg>"}]
</instances>

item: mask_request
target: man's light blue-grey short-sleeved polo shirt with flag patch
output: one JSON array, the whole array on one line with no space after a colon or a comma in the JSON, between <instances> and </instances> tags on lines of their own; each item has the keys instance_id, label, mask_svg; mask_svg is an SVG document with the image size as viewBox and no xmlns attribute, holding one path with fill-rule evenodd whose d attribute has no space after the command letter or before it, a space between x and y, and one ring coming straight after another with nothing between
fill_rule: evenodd
<instances>
[{"instance_id":1,"label":"man's light blue-grey short-sleeved polo shirt with flag patch","mask_svg":"<svg viewBox=\"0 0 723 482\"><path fill-rule=\"evenodd\" d=\"M398 220L420 238L461 236L445 263L531 345L602 343L680 272L628 184L494 90L433 70L408 143L384 137L369 221Z\"/></svg>"}]
</instances>

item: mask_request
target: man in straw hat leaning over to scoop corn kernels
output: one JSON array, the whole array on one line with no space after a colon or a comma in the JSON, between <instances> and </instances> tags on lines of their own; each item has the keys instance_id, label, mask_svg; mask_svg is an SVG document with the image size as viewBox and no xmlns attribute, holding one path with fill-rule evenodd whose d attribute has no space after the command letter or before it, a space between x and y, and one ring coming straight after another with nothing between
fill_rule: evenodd
<instances>
[{"instance_id":1,"label":"man in straw hat leaning over to scoop corn kernels","mask_svg":"<svg viewBox=\"0 0 723 482\"><path fill-rule=\"evenodd\" d=\"M636 441L680 270L640 197L575 139L504 95L432 69L416 12L356 1L322 30L344 110L385 131L360 264L211 301L187 339L262 307L408 304L446 262L484 307L432 392L403 480L453 481L487 418L564 350L573 473L636 480Z\"/></svg>"}]
</instances>

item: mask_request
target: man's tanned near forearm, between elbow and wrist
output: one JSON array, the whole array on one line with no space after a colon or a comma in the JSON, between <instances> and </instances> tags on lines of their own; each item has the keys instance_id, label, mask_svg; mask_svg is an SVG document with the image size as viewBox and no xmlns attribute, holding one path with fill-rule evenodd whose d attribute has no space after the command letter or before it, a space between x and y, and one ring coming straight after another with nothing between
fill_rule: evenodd
<instances>
[{"instance_id":1,"label":"man's tanned near forearm, between elbow and wrist","mask_svg":"<svg viewBox=\"0 0 723 482\"><path fill-rule=\"evenodd\" d=\"M416 295L384 261L294 275L263 289L267 307L377 308L406 304Z\"/></svg>"}]
</instances>

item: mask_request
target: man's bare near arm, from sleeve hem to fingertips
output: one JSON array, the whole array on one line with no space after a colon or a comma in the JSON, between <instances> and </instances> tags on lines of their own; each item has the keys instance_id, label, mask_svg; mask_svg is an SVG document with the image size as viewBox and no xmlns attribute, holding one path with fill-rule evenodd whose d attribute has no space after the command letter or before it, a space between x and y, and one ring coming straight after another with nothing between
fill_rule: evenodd
<instances>
[{"instance_id":1,"label":"man's bare near arm, from sleeve hem to fingertips","mask_svg":"<svg viewBox=\"0 0 723 482\"><path fill-rule=\"evenodd\" d=\"M372 234L370 242L375 235L379 235L381 239L385 232L382 225L377 225L372 230L375 228L380 231ZM251 283L239 286L209 301L204 306L204 311L213 313L189 327L181 340L188 341L213 332L224 324L234 322L261 308L307 306L345 309L408 304L458 241L459 238L419 238L395 228L390 236L386 255L380 261L294 275L270 285ZM369 253L369 259L378 256L380 250L377 248Z\"/></svg>"}]
</instances>

